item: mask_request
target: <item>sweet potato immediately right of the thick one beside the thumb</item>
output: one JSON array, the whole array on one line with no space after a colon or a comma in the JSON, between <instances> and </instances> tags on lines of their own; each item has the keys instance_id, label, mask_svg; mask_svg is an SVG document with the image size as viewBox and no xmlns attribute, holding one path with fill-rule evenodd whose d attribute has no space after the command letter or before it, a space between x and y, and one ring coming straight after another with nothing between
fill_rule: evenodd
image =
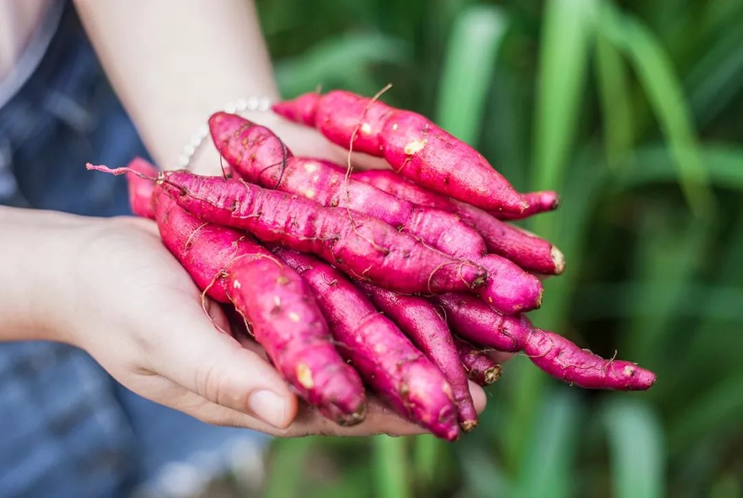
<instances>
[{"instance_id":1,"label":"sweet potato immediately right of the thick one beside the thumb","mask_svg":"<svg viewBox=\"0 0 743 498\"><path fill-rule=\"evenodd\" d=\"M457 439L450 384L400 329L331 265L291 250L273 252L313 288L341 353L374 392L435 436Z\"/></svg>"}]
</instances>

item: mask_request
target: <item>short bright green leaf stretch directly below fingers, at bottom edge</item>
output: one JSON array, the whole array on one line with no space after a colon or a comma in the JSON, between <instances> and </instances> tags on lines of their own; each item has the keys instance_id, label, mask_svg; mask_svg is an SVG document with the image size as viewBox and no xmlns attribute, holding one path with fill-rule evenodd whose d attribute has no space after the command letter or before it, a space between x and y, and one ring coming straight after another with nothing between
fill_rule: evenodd
<instances>
[{"instance_id":1,"label":"short bright green leaf stretch directly below fingers, at bottom edge","mask_svg":"<svg viewBox=\"0 0 743 498\"><path fill-rule=\"evenodd\" d=\"M374 437L374 482L378 497L409 497L404 441L389 436Z\"/></svg>"}]
</instances>

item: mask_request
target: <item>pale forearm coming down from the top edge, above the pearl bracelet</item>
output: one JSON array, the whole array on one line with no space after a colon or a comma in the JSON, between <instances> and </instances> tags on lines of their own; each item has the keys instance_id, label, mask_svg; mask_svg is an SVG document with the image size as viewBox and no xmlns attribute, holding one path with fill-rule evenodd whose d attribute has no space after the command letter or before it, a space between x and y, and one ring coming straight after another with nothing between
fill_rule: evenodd
<instances>
[{"instance_id":1,"label":"pale forearm coming down from the top edge, above the pearl bracelet","mask_svg":"<svg viewBox=\"0 0 743 498\"><path fill-rule=\"evenodd\" d=\"M195 129L225 103L277 97L253 1L76 4L108 77L162 167L175 167ZM143 34L135 36L132 27ZM217 167L218 156L208 152L201 162Z\"/></svg>"}]
</instances>

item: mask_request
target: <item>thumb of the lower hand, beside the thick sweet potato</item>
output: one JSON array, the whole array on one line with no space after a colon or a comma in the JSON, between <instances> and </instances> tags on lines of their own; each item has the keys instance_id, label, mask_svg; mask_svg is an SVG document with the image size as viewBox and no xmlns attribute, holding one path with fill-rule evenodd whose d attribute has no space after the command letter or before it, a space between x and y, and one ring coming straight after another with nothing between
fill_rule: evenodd
<instances>
[{"instance_id":1,"label":"thumb of the lower hand, beside the thick sweet potato","mask_svg":"<svg viewBox=\"0 0 743 498\"><path fill-rule=\"evenodd\" d=\"M168 317L172 333L164 335L175 340L160 341L148 352L155 372L216 404L287 427L296 416L297 400L279 372L215 329L201 308L183 308Z\"/></svg>"}]
</instances>

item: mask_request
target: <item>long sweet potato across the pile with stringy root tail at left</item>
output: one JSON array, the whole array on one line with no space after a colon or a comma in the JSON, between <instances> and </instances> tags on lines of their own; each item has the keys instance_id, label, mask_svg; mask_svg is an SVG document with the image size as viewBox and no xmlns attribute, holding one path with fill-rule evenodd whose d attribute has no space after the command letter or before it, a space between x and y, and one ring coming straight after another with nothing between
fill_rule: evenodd
<instances>
[{"instance_id":1,"label":"long sweet potato across the pile with stringy root tail at left","mask_svg":"<svg viewBox=\"0 0 743 498\"><path fill-rule=\"evenodd\" d=\"M127 171L91 164L88 168ZM356 279L391 290L471 291L487 277L484 268L429 248L379 219L358 213L349 219L348 210L321 207L307 198L184 170L161 172L158 184L199 219L315 253Z\"/></svg>"}]
</instances>

